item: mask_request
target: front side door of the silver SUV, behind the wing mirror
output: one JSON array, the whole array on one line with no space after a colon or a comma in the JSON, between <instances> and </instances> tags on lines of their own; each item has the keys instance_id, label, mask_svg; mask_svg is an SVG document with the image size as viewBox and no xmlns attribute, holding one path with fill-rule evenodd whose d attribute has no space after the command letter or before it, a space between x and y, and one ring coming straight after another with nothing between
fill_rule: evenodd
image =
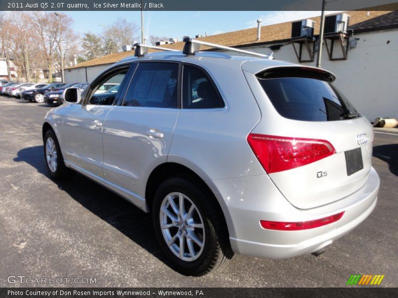
<instances>
[{"instance_id":1,"label":"front side door of the silver SUV, behind the wing mirror","mask_svg":"<svg viewBox=\"0 0 398 298\"><path fill-rule=\"evenodd\" d=\"M82 104L72 104L64 110L59 128L61 147L65 160L79 170L102 177L103 123L120 93L101 93L99 100L97 90L109 81L123 84L130 67L126 64L105 72L84 93Z\"/></svg>"}]
</instances>

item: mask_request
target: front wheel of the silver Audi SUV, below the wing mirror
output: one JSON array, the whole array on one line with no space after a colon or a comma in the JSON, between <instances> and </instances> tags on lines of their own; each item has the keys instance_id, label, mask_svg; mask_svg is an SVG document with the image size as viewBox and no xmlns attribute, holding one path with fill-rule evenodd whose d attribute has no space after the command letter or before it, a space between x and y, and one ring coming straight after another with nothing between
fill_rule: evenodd
<instances>
[{"instance_id":1,"label":"front wheel of the silver Audi SUV, below the wing mirror","mask_svg":"<svg viewBox=\"0 0 398 298\"><path fill-rule=\"evenodd\" d=\"M66 167L58 139L52 129L44 134L44 160L48 174L54 179L68 178L73 171Z\"/></svg>"}]
</instances>

